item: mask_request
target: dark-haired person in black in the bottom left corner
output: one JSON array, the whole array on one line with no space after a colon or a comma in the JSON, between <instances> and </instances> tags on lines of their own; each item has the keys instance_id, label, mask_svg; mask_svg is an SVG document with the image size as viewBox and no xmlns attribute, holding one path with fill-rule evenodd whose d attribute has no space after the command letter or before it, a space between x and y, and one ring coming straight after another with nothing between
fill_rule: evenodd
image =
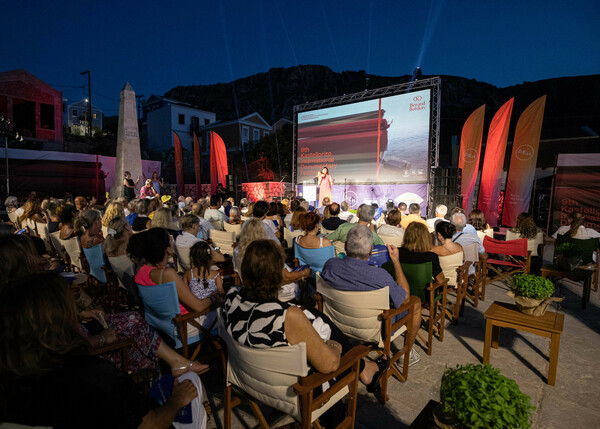
<instances>
[{"instance_id":1,"label":"dark-haired person in black in the bottom left corner","mask_svg":"<svg viewBox=\"0 0 600 429\"><path fill-rule=\"evenodd\" d=\"M52 273L33 274L0 290L0 330L4 422L167 427L198 395L191 381L175 383L171 398L153 410L127 374L89 355L70 290Z\"/></svg>"}]
</instances>

